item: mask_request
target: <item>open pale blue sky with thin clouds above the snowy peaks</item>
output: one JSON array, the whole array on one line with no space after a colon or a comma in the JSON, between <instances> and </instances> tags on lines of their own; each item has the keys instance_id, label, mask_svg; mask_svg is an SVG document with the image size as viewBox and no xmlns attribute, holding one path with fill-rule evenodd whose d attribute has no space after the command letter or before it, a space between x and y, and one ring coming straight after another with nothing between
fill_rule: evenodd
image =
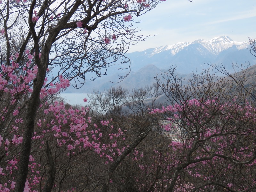
<instances>
[{"instance_id":1,"label":"open pale blue sky with thin clouds above the snowy peaks","mask_svg":"<svg viewBox=\"0 0 256 192\"><path fill-rule=\"evenodd\" d=\"M166 0L135 24L143 35L154 35L129 52L177 42L210 40L227 35L234 41L256 38L255 0Z\"/></svg>"}]
</instances>

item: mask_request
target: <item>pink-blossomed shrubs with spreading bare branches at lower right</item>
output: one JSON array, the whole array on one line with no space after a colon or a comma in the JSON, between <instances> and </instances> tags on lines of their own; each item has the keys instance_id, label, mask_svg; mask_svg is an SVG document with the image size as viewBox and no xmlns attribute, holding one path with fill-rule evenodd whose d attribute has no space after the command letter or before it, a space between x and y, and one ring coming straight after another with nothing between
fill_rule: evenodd
<instances>
[{"instance_id":1,"label":"pink-blossomed shrubs with spreading bare branches at lower right","mask_svg":"<svg viewBox=\"0 0 256 192\"><path fill-rule=\"evenodd\" d=\"M241 103L238 98L229 102L220 102L218 98L191 99L181 104L151 109L151 114L164 114L166 120L162 127L169 132L168 136L171 138L168 148L172 149L173 154L169 154L166 161L173 163L170 164L171 167L167 166L167 170L184 164L187 154L192 151L193 155L189 156L191 164L186 167L192 177L208 183L215 182L216 175L211 171L214 172L215 167L223 167L223 184L230 190L244 190L241 186L232 184L230 178L235 170L241 171L237 164L246 162L242 171L247 178L244 182L255 183L250 174L252 167L256 167L256 143L251 139L247 140L256 136L255 129L251 127L256 122L255 112L256 108L249 102ZM238 179L242 181L241 178ZM178 177L177 183L179 182L181 178ZM179 187L177 185L175 190L180 191ZM204 188L213 190L211 185ZM184 189L189 191L191 188Z\"/></svg>"}]
</instances>

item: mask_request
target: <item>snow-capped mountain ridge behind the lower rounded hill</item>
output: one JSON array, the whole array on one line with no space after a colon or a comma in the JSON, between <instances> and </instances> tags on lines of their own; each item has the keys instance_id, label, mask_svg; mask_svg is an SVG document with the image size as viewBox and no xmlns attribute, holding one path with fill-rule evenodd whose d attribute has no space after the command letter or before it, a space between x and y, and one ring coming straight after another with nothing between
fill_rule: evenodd
<instances>
[{"instance_id":1,"label":"snow-capped mountain ridge behind the lower rounded hill","mask_svg":"<svg viewBox=\"0 0 256 192\"><path fill-rule=\"evenodd\" d=\"M126 56L131 59L132 71L137 71L148 64L156 65L160 69L176 65L179 73L188 74L207 68L204 63L224 64L223 59L229 69L232 63L253 62L256 58L246 49L249 45L249 42L233 41L228 36L220 36L209 41L199 39L193 42L179 42L128 53ZM227 55L224 56L225 54Z\"/></svg>"}]
</instances>

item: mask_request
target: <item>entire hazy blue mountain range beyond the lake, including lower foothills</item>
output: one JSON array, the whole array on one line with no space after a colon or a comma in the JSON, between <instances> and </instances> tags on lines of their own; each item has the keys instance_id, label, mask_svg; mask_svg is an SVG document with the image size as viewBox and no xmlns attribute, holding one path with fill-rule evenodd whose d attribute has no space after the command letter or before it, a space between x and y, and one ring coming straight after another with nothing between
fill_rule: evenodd
<instances>
[{"instance_id":1,"label":"entire hazy blue mountain range beyond the lake, including lower foothills","mask_svg":"<svg viewBox=\"0 0 256 192\"><path fill-rule=\"evenodd\" d=\"M177 74L187 76L193 71L201 72L209 68L206 63L223 65L232 71L233 64L256 64L254 57L247 49L249 42L237 42L228 36L220 36L194 42L179 42L158 48L147 49L141 52L127 53L125 56L131 60L131 72L122 82L118 83L125 88L145 87L154 82L156 73L168 70L170 66L177 66ZM110 82L118 80L119 70L108 70L108 75L88 80L79 90L69 88L66 92L91 93L93 89L103 91L113 86ZM90 76L88 74L88 76Z\"/></svg>"}]
</instances>

